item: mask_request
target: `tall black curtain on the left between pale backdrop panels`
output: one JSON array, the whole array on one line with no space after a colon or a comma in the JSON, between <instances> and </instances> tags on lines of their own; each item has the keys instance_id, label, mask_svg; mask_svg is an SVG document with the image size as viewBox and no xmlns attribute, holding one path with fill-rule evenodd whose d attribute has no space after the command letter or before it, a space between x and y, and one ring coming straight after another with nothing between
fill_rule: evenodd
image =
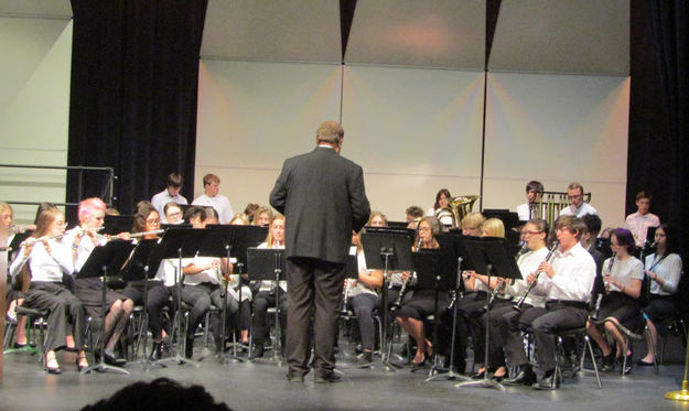
<instances>
[{"instance_id":1,"label":"tall black curtain on the left between pale backdrop panels","mask_svg":"<svg viewBox=\"0 0 689 411\"><path fill-rule=\"evenodd\" d=\"M69 165L111 166L114 206L133 205L180 172L194 190L198 55L207 0L72 0L74 40ZM100 196L104 180L86 174L84 192L67 182L67 201Z\"/></svg>"}]
</instances>

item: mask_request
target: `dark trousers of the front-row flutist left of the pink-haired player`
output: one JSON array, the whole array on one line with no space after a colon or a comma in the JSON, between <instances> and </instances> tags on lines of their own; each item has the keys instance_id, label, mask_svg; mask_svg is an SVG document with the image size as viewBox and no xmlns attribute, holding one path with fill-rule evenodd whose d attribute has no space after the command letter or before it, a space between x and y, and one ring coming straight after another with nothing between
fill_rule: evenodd
<instances>
[{"instance_id":1,"label":"dark trousers of the front-row flutist left of the pink-haired player","mask_svg":"<svg viewBox=\"0 0 689 411\"><path fill-rule=\"evenodd\" d=\"M45 350L65 346L68 323L72 324L75 347L84 349L86 313L79 299L62 282L31 282L24 304L30 309L49 312Z\"/></svg>"}]
</instances>

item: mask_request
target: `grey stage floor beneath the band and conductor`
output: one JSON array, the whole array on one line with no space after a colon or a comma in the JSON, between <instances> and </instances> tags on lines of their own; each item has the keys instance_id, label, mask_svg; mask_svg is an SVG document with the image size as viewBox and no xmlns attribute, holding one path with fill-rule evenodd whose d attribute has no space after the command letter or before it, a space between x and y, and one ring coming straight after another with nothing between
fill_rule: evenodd
<instances>
[{"instance_id":1,"label":"grey stage floor beneath the band and conductor","mask_svg":"<svg viewBox=\"0 0 689 411\"><path fill-rule=\"evenodd\" d=\"M35 356L25 353L6 355L4 378L0 385L0 410L75 410L111 396L120 388L140 380L168 377L183 385L201 385L216 399L234 410L686 410L689 405L664 399L666 391L679 389L683 353L672 344L666 363L656 376L653 367L635 367L624 378L602 375L603 389L598 389L593 374L579 374L566 379L556 391L508 387L505 391L485 388L455 388L456 381L424 382L428 368L410 372L402 368L386 371L376 364L372 369L356 369L352 355L338 355L338 367L345 372L341 382L315 385L310 374L304 383L287 382L287 368L268 358L222 365L208 357L200 367L169 365L144 370L129 363L131 376L91 372L79 376L74 365L76 354L58 353L63 374L47 375ZM349 344L341 344L352 353ZM204 354L196 343L194 358ZM639 349L643 348L639 347ZM270 355L270 351L267 353Z\"/></svg>"}]
</instances>

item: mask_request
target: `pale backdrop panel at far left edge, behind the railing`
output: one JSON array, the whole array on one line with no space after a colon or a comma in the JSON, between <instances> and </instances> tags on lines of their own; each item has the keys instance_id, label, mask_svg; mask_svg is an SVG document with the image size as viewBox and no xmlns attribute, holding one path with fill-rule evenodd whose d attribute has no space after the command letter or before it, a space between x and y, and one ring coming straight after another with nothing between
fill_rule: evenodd
<instances>
[{"instance_id":1,"label":"pale backdrop panel at far left edge, behind the railing","mask_svg":"<svg viewBox=\"0 0 689 411\"><path fill-rule=\"evenodd\" d=\"M2 163L66 165L72 20L0 18ZM64 171L0 169L3 201L65 201ZM20 224L35 206L15 206Z\"/></svg>"}]
</instances>

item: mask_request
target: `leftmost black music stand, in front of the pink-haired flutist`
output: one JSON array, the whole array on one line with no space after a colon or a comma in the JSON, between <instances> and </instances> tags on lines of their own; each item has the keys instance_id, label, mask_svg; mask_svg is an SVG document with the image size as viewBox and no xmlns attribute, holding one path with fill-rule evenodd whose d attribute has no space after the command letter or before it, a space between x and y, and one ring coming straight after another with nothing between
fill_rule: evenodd
<instances>
[{"instance_id":1,"label":"leftmost black music stand, in front of the pink-haired flutist","mask_svg":"<svg viewBox=\"0 0 689 411\"><path fill-rule=\"evenodd\" d=\"M129 375L130 372L121 367L111 366L105 363L105 317L106 317L106 291L107 291L107 277L118 273L121 267L127 261L127 258L131 253L134 246L130 241L114 240L106 244L103 247L94 248L94 251L88 256L88 259L82 267L82 270L76 274L76 279L89 279L94 277L103 277L103 302L100 314L100 361L83 369L80 374L87 374L91 370L95 371L116 371ZM95 348L95 347L91 347Z\"/></svg>"}]
</instances>

